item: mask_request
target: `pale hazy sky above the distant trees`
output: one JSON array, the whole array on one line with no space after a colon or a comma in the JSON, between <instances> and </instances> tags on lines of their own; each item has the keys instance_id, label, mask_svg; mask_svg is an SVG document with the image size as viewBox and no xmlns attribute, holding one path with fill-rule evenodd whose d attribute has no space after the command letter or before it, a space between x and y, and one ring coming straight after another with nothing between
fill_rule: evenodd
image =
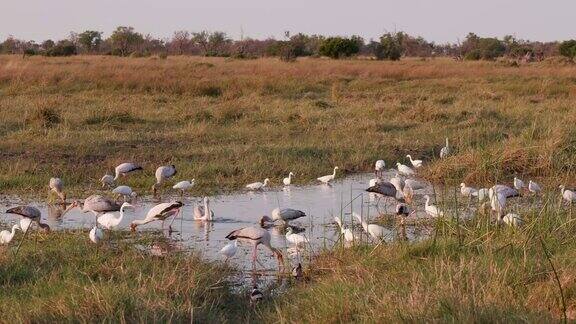
<instances>
[{"instance_id":1,"label":"pale hazy sky above the distant trees","mask_svg":"<svg viewBox=\"0 0 576 324\"><path fill-rule=\"evenodd\" d=\"M436 43L468 32L551 41L576 38L573 0L0 0L0 40L40 42L71 31L132 26L165 38L175 30L219 30L234 39L292 34L377 39L404 31Z\"/></svg>"}]
</instances>

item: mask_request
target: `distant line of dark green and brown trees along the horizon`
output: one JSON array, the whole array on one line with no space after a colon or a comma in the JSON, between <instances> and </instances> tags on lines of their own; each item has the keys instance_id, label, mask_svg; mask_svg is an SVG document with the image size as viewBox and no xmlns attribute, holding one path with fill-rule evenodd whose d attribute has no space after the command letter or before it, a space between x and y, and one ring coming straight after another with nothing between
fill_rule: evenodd
<instances>
[{"instance_id":1,"label":"distant line of dark green and brown trees along the horizon","mask_svg":"<svg viewBox=\"0 0 576 324\"><path fill-rule=\"evenodd\" d=\"M469 33L457 44L435 44L404 32L386 33L378 40L366 41L360 36L325 37L291 35L283 40L233 40L226 33L214 31L176 31L167 39L143 35L132 27L118 27L104 38L100 31L70 33L67 39L34 41L9 37L0 43L0 53L70 56L77 54L144 57L157 55L202 55L235 58L273 56L292 61L302 56L326 56L334 59L363 56L378 60L399 60L402 57L448 56L463 60L493 60L499 57L533 61L563 55L576 57L576 40L534 42L505 36L502 39L479 37Z\"/></svg>"}]
</instances>

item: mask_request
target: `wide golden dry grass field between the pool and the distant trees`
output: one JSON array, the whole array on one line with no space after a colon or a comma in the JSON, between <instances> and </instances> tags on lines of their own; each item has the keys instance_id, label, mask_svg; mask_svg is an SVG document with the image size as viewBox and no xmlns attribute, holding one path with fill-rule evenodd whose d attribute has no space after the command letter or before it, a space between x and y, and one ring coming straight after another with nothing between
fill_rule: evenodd
<instances>
[{"instance_id":1,"label":"wide golden dry grass field between the pool and the distant trees","mask_svg":"<svg viewBox=\"0 0 576 324\"><path fill-rule=\"evenodd\" d=\"M576 68L449 60L0 57L0 189L90 192L120 162L174 163L196 194L406 153L435 181L573 181ZM48 108L47 108L48 107ZM31 117L30 117L31 116ZM433 162L443 138L456 155ZM430 161L430 162L429 162ZM548 179L548 180L547 180Z\"/></svg>"}]
</instances>

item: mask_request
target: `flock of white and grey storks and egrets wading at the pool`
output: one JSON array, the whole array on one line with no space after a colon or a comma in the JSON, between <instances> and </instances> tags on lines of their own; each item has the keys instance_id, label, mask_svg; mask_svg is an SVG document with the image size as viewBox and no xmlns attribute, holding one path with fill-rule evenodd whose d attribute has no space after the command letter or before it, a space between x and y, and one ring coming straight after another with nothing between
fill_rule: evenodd
<instances>
[{"instance_id":1,"label":"flock of white and grey storks and egrets wading at the pool","mask_svg":"<svg viewBox=\"0 0 576 324\"><path fill-rule=\"evenodd\" d=\"M445 146L440 150L440 158L446 158L451 153L451 148L449 146L448 139L446 139ZM396 201L395 213L401 216L401 224L403 220L414 214L415 210L409 207L413 202L415 192L420 189L424 189L426 186L419 182L418 180L411 179L417 174L417 170L421 168L424 164L422 160L413 159L411 155L407 155L406 158L410 161L411 166L396 163L397 173L394 177L389 180L384 180L384 171L386 163L383 160L378 160L375 163L375 174L376 177L370 180L369 188L366 189L369 193L380 198L392 198ZM122 219L124 218L124 212L127 208L134 208L129 201L137 196L137 194L126 185L119 185L114 187L123 177L126 177L133 172L142 170L142 167L135 163L122 163L115 168L114 175L106 174L101 179L100 182L103 187L111 189L113 195L116 195L116 199L111 199L100 194L94 194L81 203L77 200L72 201L69 205L66 203L66 194L64 192L64 183L60 178L51 178L49 181L50 191L55 193L60 201L67 207L66 211L72 208L80 208L84 213L92 213L95 217L95 225L91 228L89 232L89 238L94 243L99 243L104 238L104 231L112 231L117 229ZM324 184L330 184L336 178L336 172L338 167L334 167L332 174L318 177L317 180ZM165 165L160 166L155 172L155 182L152 185L152 193L154 196L158 194L158 191L167 182L168 179L175 177L177 174L176 166ZM294 173L290 172L286 178L282 180L285 186L289 186L292 183ZM270 179L266 178L262 182L254 182L246 185L246 189L250 191L264 190L270 184ZM190 190L195 185L195 180L184 180L176 183L172 188L178 190L181 195L188 190ZM533 194L539 194L541 192L541 187L534 181L530 180L528 185L518 179L514 178L513 184L511 186L496 184L491 188L481 188L476 189L467 186L465 183L460 184L460 192L463 196L469 197L470 199L476 198L484 204L488 204L491 210L497 214L497 220L502 223L506 223L512 226L519 226L522 224L522 219L517 214L505 213L506 202L508 199L517 197L521 195L521 190L527 189ZM566 189L564 186L560 186L562 198L567 202L573 202L576 200L576 191ZM123 197L124 202L120 203L119 198ZM438 206L431 203L430 197L425 195L424 197L424 211L430 217L442 217L444 212ZM181 209L183 203L181 201L170 201L162 202L153 206L142 219L133 220L130 223L130 229L136 231L137 227L140 225L148 224L155 221L162 222L162 229L165 227L165 222L171 218L171 222L168 225L168 230L172 231L172 223L181 214ZM118 215L114 214L118 212ZM11 230L4 230L0 232L0 244L7 244L12 241L16 231L21 230L24 235L28 232L32 224L36 224L40 230L49 231L50 228L47 224L41 221L41 212L34 206L22 205L16 206L6 210L7 214L15 214L21 217L19 224L12 226ZM220 253L228 260L233 257L238 250L238 241L247 243L252 246L252 265L255 267L257 262L257 248L259 245L266 247L273 256L277 259L279 266L283 266L283 255L282 252L271 245L271 235L267 230L271 226L277 226L278 224L286 226L286 241L295 247L309 244L308 238L304 235L295 233L292 227L289 226L289 222L305 217L306 214L300 210L291 208L276 208L272 211L271 217L263 216L259 223L254 226L239 228L230 232L226 238L233 241L226 246L224 246ZM359 214L353 214L353 216L362 225L362 229L377 242L381 242L384 239L385 234L388 232L383 226L377 224L370 224L366 219L363 219ZM202 204L198 204L193 209L193 219L201 222L211 222L214 221L214 211L210 208L210 199L204 197ZM334 219L335 223L339 226L342 238L346 242L354 242L358 239L354 231L346 227L342 223L342 220L338 217ZM24 239L24 238L23 238ZM292 269L292 274L294 276L302 275L302 265L298 263L296 267Z\"/></svg>"}]
</instances>

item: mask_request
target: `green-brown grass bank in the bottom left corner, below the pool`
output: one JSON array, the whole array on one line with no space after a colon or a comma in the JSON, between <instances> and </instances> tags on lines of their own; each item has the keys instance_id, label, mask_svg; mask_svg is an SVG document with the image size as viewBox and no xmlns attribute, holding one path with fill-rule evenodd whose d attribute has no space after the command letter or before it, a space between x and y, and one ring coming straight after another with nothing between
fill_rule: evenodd
<instances>
[{"instance_id":1,"label":"green-brown grass bank in the bottom left corner, below the pool","mask_svg":"<svg viewBox=\"0 0 576 324\"><path fill-rule=\"evenodd\" d=\"M33 233L14 258L17 236L0 254L3 320L206 323L246 307L229 289L231 269L178 251L151 256L144 248L168 243L159 234L114 234L97 247L87 232Z\"/></svg>"}]
</instances>

